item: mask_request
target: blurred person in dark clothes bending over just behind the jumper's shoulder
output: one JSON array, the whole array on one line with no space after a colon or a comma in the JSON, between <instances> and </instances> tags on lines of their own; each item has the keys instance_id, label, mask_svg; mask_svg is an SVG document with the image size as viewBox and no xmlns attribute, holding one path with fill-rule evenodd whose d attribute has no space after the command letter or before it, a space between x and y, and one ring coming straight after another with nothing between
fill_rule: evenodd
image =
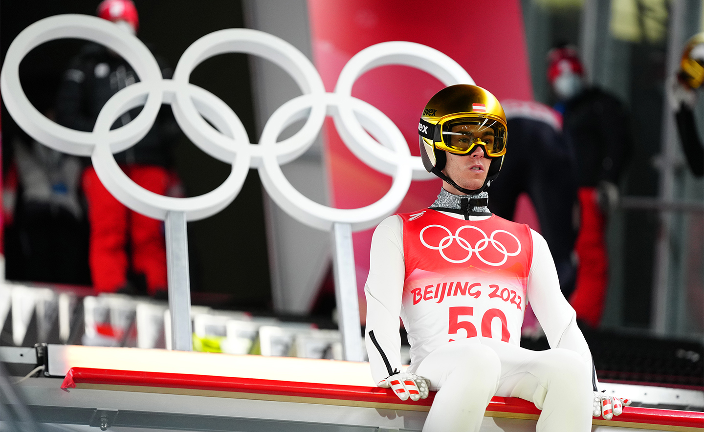
<instances>
[{"instance_id":1,"label":"blurred person in dark clothes bending over just behind the jumper's shoulder","mask_svg":"<svg viewBox=\"0 0 704 432\"><path fill-rule=\"evenodd\" d=\"M491 183L489 208L495 215L514 220L517 198L530 197L548 243L565 298L574 291L577 272L572 250L577 237L577 178L574 152L562 136L562 115L532 101L502 101L511 131L511 153L501 176ZM526 308L523 336L542 336L530 305Z\"/></svg>"}]
</instances>

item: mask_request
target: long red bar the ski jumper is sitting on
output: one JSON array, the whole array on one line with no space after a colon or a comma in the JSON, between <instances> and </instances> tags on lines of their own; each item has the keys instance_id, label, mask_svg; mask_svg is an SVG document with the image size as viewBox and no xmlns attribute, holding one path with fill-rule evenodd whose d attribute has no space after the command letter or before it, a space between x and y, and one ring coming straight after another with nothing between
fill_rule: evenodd
<instances>
[{"instance_id":1,"label":"long red bar the ski jumper is sitting on","mask_svg":"<svg viewBox=\"0 0 704 432\"><path fill-rule=\"evenodd\" d=\"M419 405L426 407L432 405L435 395L435 392L430 392L427 399L421 399L417 402L413 402L412 400L403 402L394 395L394 391L391 390L391 388L339 386L333 384L302 383L298 381L234 378L231 376L166 374L161 372L72 367L69 369L68 374L66 374L61 388L64 390L75 388L77 383L105 384L111 386L190 388L195 390L286 395L301 398L351 400L376 402L379 404ZM491 399L486 410L492 412L513 412L515 414L540 414L540 410L537 409L532 402L519 398L501 398L498 396ZM674 409L624 407L623 414L614 416L612 421L704 428L704 413L676 411Z\"/></svg>"}]
</instances>

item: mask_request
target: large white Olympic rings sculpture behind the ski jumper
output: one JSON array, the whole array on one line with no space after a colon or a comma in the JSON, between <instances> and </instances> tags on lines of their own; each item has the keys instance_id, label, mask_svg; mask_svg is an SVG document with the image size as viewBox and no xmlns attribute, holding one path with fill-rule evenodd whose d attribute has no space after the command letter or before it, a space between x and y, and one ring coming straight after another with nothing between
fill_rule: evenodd
<instances>
[{"instance_id":1,"label":"large white Olympic rings sculpture behind the ski jumper","mask_svg":"<svg viewBox=\"0 0 704 432\"><path fill-rule=\"evenodd\" d=\"M125 58L139 76L139 82L108 100L92 132L68 129L44 117L20 85L18 69L27 53L44 42L62 38L103 44ZM258 144L251 143L239 117L225 102L189 83L197 65L222 53L248 53L272 61L293 77L303 93L271 115ZM334 93L326 93L318 71L301 51L271 34L249 29L219 30L201 37L184 51L173 79L164 80L156 59L137 37L101 18L67 14L39 20L15 38L5 57L0 91L8 112L27 134L58 151L90 156L106 189L128 208L146 216L165 220L173 211L184 212L187 220L199 220L214 215L234 200L253 167L258 169L272 199L298 221L322 230L329 230L335 222L359 230L375 226L394 212L406 196L411 179L434 178L429 177L419 157L410 155L406 140L389 117L351 96L360 75L391 64L425 70L446 85L474 84L458 63L440 51L411 42L384 42L353 56L341 71ZM213 191L189 198L158 195L132 182L115 162L113 153L134 146L149 132L162 103L171 105L176 121L196 146L232 165L225 182ZM110 130L115 119L137 106L144 108L132 122ZM344 143L360 160L394 178L391 189L379 201L363 208L330 208L303 196L284 177L280 165L306 152L326 115L334 117ZM306 122L296 134L277 141L287 126L303 118Z\"/></svg>"}]
</instances>

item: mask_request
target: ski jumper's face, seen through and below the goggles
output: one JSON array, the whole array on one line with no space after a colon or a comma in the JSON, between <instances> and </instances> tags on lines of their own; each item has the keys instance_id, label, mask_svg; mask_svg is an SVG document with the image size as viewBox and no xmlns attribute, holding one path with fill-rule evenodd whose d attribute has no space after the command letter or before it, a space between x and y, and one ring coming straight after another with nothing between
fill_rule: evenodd
<instances>
[{"instance_id":1,"label":"ski jumper's face, seen through and below the goggles","mask_svg":"<svg viewBox=\"0 0 704 432\"><path fill-rule=\"evenodd\" d=\"M482 140L488 140L494 138L494 132L489 129L491 136L483 136L482 133L486 131L479 131L477 125L457 125L454 126L451 132L463 132L467 134L467 138L470 142L472 136L478 136ZM475 130L477 129L477 130ZM488 132L486 132L488 133ZM453 139L458 137L458 139L463 139L462 135L452 135ZM486 180L486 174L489 174L489 165L491 165L491 158L487 158L484 154L484 148L482 146L474 147L472 153L468 155L455 155L448 151L445 152L447 155L447 163L445 164L445 169L442 172L446 176L450 177L457 183L460 187L465 189L479 189L484 184ZM454 186L447 182L443 182L443 189L455 195L466 195L455 189Z\"/></svg>"}]
</instances>

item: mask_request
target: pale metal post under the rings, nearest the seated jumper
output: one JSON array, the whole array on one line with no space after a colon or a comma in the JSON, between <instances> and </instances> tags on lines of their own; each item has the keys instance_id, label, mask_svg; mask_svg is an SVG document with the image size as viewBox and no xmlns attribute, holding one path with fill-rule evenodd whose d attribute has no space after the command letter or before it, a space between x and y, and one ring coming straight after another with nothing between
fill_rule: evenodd
<instances>
[{"instance_id":1,"label":"pale metal post under the rings, nearest the seated jumper","mask_svg":"<svg viewBox=\"0 0 704 432\"><path fill-rule=\"evenodd\" d=\"M335 274L337 322L342 334L345 360L362 362L364 351L360 334L357 277L352 247L352 226L332 224L332 266Z\"/></svg>"}]
</instances>

